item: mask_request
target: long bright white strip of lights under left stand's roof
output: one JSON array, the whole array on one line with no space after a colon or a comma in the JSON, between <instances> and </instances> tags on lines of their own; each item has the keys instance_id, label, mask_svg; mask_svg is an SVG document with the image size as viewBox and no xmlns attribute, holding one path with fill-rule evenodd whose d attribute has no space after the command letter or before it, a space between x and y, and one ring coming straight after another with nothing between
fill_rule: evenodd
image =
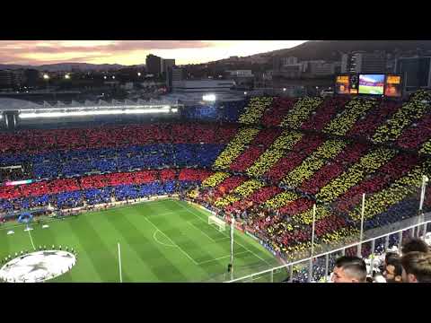
<instances>
[{"instance_id":1,"label":"long bright white strip of lights under left stand's roof","mask_svg":"<svg viewBox=\"0 0 431 323\"><path fill-rule=\"evenodd\" d=\"M150 113L173 113L178 109L110 109L94 111L70 111L70 112L40 112L40 113L20 113L20 118L65 118L65 117L86 117L86 116L108 116L119 114L150 114Z\"/></svg>"}]
</instances>

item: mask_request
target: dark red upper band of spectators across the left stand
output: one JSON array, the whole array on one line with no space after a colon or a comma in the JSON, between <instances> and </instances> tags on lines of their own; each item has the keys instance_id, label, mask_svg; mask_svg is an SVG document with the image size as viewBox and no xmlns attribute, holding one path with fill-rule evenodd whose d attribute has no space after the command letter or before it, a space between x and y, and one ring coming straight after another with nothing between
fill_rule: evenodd
<instances>
[{"instance_id":1,"label":"dark red upper band of spectators across the left stand","mask_svg":"<svg viewBox=\"0 0 431 323\"><path fill-rule=\"evenodd\" d=\"M0 163L15 162L15 159L18 162L19 158L28 154L55 150L114 148L145 144L227 144L236 132L237 126L233 124L194 123L22 130L0 133L0 153L2 153ZM13 161L10 160L11 158Z\"/></svg>"}]
</instances>

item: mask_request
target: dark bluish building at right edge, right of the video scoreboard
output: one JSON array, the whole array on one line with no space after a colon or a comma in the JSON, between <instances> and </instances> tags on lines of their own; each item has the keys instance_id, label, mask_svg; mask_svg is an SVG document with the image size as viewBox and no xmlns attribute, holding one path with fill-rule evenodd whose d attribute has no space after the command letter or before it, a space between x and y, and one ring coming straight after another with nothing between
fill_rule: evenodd
<instances>
[{"instance_id":1,"label":"dark bluish building at right edge, right of the video scoreboard","mask_svg":"<svg viewBox=\"0 0 431 323\"><path fill-rule=\"evenodd\" d=\"M401 74L405 92L431 87L431 57L400 57L395 73Z\"/></svg>"}]
</instances>

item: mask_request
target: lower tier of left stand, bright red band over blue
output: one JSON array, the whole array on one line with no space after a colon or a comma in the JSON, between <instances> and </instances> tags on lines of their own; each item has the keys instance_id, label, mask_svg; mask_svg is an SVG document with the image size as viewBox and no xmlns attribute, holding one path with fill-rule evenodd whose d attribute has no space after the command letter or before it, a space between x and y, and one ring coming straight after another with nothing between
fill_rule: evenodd
<instances>
[{"instance_id":1,"label":"lower tier of left stand, bright red band over blue","mask_svg":"<svg viewBox=\"0 0 431 323\"><path fill-rule=\"evenodd\" d=\"M0 188L0 214L55 205L59 208L89 205L145 196L165 195L199 185L211 170L145 170L56 179Z\"/></svg>"}]
</instances>

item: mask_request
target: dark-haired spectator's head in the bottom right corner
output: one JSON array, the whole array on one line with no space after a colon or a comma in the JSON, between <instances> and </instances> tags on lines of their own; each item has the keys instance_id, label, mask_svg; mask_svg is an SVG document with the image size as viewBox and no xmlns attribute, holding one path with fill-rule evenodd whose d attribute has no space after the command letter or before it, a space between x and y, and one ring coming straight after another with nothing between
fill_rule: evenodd
<instances>
[{"instance_id":1,"label":"dark-haired spectator's head in the bottom right corner","mask_svg":"<svg viewBox=\"0 0 431 323\"><path fill-rule=\"evenodd\" d=\"M401 258L403 283L431 283L431 253L412 251Z\"/></svg>"}]
</instances>

